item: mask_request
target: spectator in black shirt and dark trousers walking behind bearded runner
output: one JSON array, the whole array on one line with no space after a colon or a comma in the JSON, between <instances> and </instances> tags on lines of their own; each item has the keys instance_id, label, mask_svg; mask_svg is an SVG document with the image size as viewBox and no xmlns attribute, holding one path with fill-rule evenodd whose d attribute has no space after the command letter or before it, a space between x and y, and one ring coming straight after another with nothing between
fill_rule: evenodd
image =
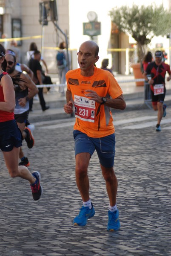
<instances>
[{"instance_id":1,"label":"spectator in black shirt and dark trousers walking behind bearded runner","mask_svg":"<svg viewBox=\"0 0 171 256\"><path fill-rule=\"evenodd\" d=\"M43 76L42 76L42 66L40 64L40 59L41 59L41 53L38 50L34 51L34 59L31 58L28 67L33 71L34 77L33 81L35 84L43 84ZM43 87L38 88L38 96L40 99L40 105L43 111L46 111L49 106L46 106L45 99L43 97ZM29 100L29 111L32 111L32 105L33 105L33 99Z\"/></svg>"}]
</instances>

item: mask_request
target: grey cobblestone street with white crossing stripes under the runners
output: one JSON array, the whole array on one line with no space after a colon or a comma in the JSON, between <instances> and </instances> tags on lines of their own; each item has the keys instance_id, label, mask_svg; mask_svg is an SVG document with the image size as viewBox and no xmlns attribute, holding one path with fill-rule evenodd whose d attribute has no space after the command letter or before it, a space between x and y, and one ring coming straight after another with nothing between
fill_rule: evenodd
<instances>
[{"instance_id":1,"label":"grey cobblestone street with white crossing stripes under the runners","mask_svg":"<svg viewBox=\"0 0 171 256\"><path fill-rule=\"evenodd\" d=\"M37 120L38 121L38 120ZM28 169L42 177L43 197L12 179L0 157L0 256L170 256L171 108L155 131L157 112L116 111L117 207L120 230L108 232L108 196L96 152L90 160L91 201L96 211L74 227L82 201L74 175L74 118L34 123L35 145L23 151Z\"/></svg>"}]
</instances>

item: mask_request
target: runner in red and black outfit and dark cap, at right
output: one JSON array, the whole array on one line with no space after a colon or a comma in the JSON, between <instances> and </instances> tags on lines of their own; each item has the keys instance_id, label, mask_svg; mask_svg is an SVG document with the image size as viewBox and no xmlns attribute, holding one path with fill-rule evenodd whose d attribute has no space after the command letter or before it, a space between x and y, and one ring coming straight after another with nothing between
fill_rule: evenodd
<instances>
[{"instance_id":1,"label":"runner in red and black outfit and dark cap, at right","mask_svg":"<svg viewBox=\"0 0 171 256\"><path fill-rule=\"evenodd\" d=\"M157 113L157 125L156 131L161 131L160 122L162 117L166 116L166 105L163 104L165 99L165 75L168 72L169 76L167 81L171 80L171 70L168 64L162 62L162 52L156 51L155 61L148 64L146 70L143 73L143 77L146 83L150 84L151 89L151 101L154 111ZM151 79L148 79L147 75L151 75Z\"/></svg>"}]
</instances>

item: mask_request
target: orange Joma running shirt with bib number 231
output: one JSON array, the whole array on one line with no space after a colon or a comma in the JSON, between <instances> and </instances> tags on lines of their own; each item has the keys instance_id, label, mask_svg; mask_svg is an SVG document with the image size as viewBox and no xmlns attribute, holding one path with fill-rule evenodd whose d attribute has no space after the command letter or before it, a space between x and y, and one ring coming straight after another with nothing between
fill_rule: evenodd
<instances>
[{"instance_id":1,"label":"orange Joma running shirt with bib number 231","mask_svg":"<svg viewBox=\"0 0 171 256\"><path fill-rule=\"evenodd\" d=\"M67 89L71 91L74 100L74 130L93 138L113 134L114 125L110 108L85 97L85 90L94 90L99 96L109 99L116 99L123 91L109 71L94 67L93 76L82 76L80 72L78 68L66 73Z\"/></svg>"}]
</instances>

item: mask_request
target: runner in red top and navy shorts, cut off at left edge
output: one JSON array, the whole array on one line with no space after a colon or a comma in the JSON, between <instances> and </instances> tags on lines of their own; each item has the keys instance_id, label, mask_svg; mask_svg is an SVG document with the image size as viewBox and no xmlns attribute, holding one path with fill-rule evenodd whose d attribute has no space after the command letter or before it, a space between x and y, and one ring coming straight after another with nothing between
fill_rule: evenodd
<instances>
[{"instance_id":1,"label":"runner in red top and navy shorts, cut off at left edge","mask_svg":"<svg viewBox=\"0 0 171 256\"><path fill-rule=\"evenodd\" d=\"M6 64L5 48L0 44L0 149L10 176L28 180L33 199L38 200L43 194L40 173L34 171L31 174L26 166L18 166L22 137L13 111L15 108L14 84L18 84L20 79L11 79L5 72Z\"/></svg>"}]
</instances>

